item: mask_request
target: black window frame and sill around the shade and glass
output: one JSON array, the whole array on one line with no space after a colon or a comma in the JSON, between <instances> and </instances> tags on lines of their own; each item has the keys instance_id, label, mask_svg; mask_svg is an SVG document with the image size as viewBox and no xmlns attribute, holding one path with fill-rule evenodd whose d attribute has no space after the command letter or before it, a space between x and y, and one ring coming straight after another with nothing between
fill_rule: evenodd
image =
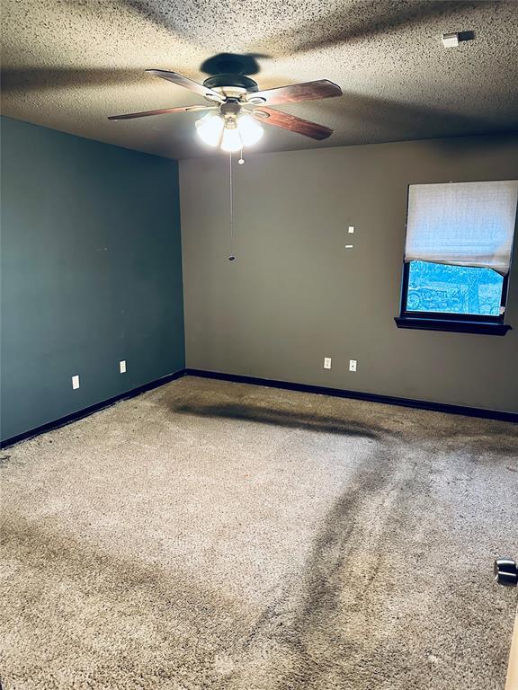
<instances>
[{"instance_id":1,"label":"black window frame and sill around the shade and glass","mask_svg":"<svg viewBox=\"0 0 518 690\"><path fill-rule=\"evenodd\" d=\"M481 180L483 182L500 181L500 180ZM408 199L410 194L410 187L414 184L426 184L426 182L412 182L406 187L406 224L405 224L405 244L406 248L406 233L408 224ZM430 184L448 184L448 182L430 182ZM514 236L513 245L510 256L510 267L513 263L514 254L514 240L516 239L518 226L518 211L514 220ZM446 266L454 264L446 263ZM502 284L502 296L500 298L500 306L504 307L504 313L494 316L491 314L455 314L454 312L417 312L408 310L406 308L406 298L408 296L408 280L410 278L410 261L405 261L405 252L403 254L403 270L401 276L401 293L400 293L400 311L399 316L396 316L394 321L397 328L411 328L419 331L450 331L450 332L470 332L470 333L484 333L492 335L505 335L506 332L512 329L512 326L505 323L507 296L509 292L509 272L504 276Z\"/></svg>"}]
</instances>

